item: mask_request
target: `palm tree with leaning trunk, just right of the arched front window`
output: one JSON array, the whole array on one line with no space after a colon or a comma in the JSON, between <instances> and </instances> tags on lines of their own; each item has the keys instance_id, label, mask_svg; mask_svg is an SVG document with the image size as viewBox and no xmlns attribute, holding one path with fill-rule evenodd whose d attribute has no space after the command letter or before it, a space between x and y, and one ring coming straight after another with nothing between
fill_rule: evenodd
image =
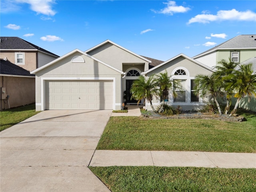
<instances>
[{"instance_id":1,"label":"palm tree with leaning trunk, just right of the arched front window","mask_svg":"<svg viewBox=\"0 0 256 192\"><path fill-rule=\"evenodd\" d=\"M196 75L195 84L198 92L200 92L202 96L210 94L211 98L213 98L214 102L216 103L219 114L221 114L220 104L218 103L218 100L217 100L217 96L221 95L221 92L220 92L221 83L216 78L214 73L211 75L202 75L202 74Z\"/></svg>"}]
</instances>

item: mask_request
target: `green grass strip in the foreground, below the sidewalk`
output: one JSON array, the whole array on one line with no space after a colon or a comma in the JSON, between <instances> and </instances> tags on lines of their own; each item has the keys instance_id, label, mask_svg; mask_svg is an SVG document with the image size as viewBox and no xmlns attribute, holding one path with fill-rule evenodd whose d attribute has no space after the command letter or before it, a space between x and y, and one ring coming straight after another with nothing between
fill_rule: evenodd
<instances>
[{"instance_id":1,"label":"green grass strip in the foreground, below the sidewalk","mask_svg":"<svg viewBox=\"0 0 256 192\"><path fill-rule=\"evenodd\" d=\"M112 192L255 192L256 169L89 167Z\"/></svg>"}]
</instances>

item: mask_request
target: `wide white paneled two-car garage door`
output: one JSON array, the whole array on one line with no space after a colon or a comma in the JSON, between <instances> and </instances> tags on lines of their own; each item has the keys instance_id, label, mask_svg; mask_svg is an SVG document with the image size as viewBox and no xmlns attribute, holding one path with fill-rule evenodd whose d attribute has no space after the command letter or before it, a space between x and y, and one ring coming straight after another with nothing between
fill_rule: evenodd
<instances>
[{"instance_id":1,"label":"wide white paneled two-car garage door","mask_svg":"<svg viewBox=\"0 0 256 192\"><path fill-rule=\"evenodd\" d=\"M46 109L113 109L112 80L46 81Z\"/></svg>"}]
</instances>

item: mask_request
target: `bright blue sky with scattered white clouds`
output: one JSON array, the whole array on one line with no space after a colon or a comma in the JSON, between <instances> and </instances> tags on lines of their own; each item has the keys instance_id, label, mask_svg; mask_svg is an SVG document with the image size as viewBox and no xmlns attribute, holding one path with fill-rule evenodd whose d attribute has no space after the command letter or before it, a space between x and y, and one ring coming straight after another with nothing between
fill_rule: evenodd
<instances>
[{"instance_id":1,"label":"bright blue sky with scattered white clouds","mask_svg":"<svg viewBox=\"0 0 256 192\"><path fill-rule=\"evenodd\" d=\"M109 39L166 61L256 34L254 0L0 0L0 35L62 56Z\"/></svg>"}]
</instances>

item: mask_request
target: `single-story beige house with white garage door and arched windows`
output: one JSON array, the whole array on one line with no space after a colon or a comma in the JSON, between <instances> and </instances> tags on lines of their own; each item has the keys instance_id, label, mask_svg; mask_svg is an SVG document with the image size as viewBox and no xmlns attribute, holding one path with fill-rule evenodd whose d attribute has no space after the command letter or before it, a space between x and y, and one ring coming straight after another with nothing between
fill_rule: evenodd
<instances>
[{"instance_id":1,"label":"single-story beige house with white garage door and arched windows","mask_svg":"<svg viewBox=\"0 0 256 192\"><path fill-rule=\"evenodd\" d=\"M136 104L129 94L134 80L165 70L179 79L183 88L177 90L177 98L170 95L170 104L180 105L182 110L204 106L192 89L193 79L199 71L211 74L212 68L184 54L166 62L153 60L106 40L85 52L73 50L32 71L36 75L36 110L120 110L123 102ZM147 103L146 107L150 109Z\"/></svg>"}]
</instances>

